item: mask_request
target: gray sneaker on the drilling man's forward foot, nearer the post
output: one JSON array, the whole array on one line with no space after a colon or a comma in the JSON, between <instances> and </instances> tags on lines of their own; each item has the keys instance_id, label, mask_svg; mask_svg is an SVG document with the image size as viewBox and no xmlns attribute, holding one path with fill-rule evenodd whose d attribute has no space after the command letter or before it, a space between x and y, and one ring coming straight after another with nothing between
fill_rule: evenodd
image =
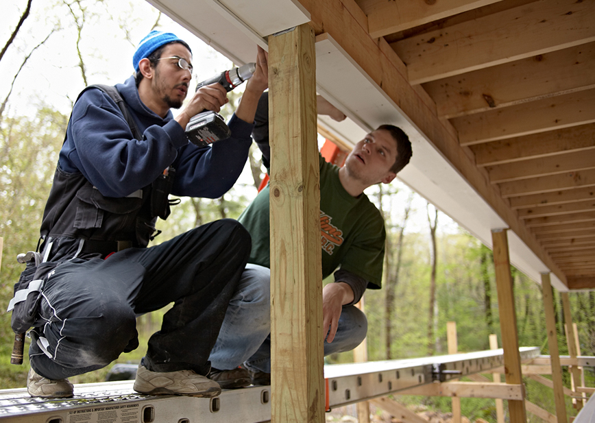
<instances>
[{"instance_id":1,"label":"gray sneaker on the drilling man's forward foot, nearer the post","mask_svg":"<svg viewBox=\"0 0 595 423\"><path fill-rule=\"evenodd\" d=\"M150 395L186 395L210 398L221 394L219 384L192 370L151 372L140 364L136 370L134 390Z\"/></svg>"}]
</instances>

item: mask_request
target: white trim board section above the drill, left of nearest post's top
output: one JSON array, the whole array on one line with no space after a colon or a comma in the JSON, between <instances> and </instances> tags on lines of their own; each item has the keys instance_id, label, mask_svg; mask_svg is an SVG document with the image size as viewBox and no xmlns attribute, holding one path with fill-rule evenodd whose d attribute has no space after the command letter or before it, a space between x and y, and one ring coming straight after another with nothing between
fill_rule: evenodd
<instances>
[{"instance_id":1,"label":"white trim board section above the drill, left of nearest post's top","mask_svg":"<svg viewBox=\"0 0 595 423\"><path fill-rule=\"evenodd\" d=\"M266 36L310 21L297 0L147 0L235 64L254 62Z\"/></svg>"}]
</instances>

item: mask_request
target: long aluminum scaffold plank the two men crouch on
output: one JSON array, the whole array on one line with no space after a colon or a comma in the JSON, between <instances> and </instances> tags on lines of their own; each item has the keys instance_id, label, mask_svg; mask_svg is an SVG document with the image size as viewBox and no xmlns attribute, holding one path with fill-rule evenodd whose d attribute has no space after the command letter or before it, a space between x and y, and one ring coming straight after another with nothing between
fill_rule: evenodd
<instances>
[{"instance_id":1,"label":"long aluminum scaffold plank the two men crouch on","mask_svg":"<svg viewBox=\"0 0 595 423\"><path fill-rule=\"evenodd\" d=\"M519 349L522 361L539 348ZM326 409L402 389L488 372L503 364L502 350L324 366ZM262 423L271 419L270 387L224 390L217 398L146 396L134 381L75 385L74 398L30 398L27 389L0 390L0 422L11 423Z\"/></svg>"}]
</instances>

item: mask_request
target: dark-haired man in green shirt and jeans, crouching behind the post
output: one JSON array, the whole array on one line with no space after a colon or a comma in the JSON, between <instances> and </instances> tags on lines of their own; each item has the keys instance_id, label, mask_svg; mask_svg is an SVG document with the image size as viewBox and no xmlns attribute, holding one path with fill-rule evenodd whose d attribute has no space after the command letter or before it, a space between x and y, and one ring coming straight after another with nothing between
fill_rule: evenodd
<instances>
[{"instance_id":1,"label":"dark-haired man in green shirt and jeans, crouching behind the post","mask_svg":"<svg viewBox=\"0 0 595 423\"><path fill-rule=\"evenodd\" d=\"M318 105L319 114L337 120L342 116L321 97ZM265 92L252 138L267 168L268 119ZM411 142L400 128L381 125L355 145L343 167L319 157L322 277L335 272L335 282L322 291L324 355L352 350L365 338L367 319L353 304L366 288L380 289L386 232L383 217L363 191L374 184L389 184L411 154ZM269 186L258 193L239 221L252 236L252 253L209 357L209 377L222 388L270 384Z\"/></svg>"}]
</instances>

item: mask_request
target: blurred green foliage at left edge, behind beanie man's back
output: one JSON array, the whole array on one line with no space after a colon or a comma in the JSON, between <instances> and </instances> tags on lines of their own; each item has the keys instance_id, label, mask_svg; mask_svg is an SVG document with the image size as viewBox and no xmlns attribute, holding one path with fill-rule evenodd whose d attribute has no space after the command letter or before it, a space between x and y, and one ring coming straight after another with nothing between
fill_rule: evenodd
<instances>
[{"instance_id":1,"label":"blurred green foliage at left edge, behind beanie man's back","mask_svg":"<svg viewBox=\"0 0 595 423\"><path fill-rule=\"evenodd\" d=\"M0 269L0 303L12 298L14 283L23 265L16 255L35 250L45 200L49 193L58 151L64 140L66 117L42 106L34 117L11 117L0 124L0 237L3 256ZM10 315L0 315L0 384L23 384L27 366L10 365L14 333ZM20 382L20 383L19 383Z\"/></svg>"}]
</instances>

